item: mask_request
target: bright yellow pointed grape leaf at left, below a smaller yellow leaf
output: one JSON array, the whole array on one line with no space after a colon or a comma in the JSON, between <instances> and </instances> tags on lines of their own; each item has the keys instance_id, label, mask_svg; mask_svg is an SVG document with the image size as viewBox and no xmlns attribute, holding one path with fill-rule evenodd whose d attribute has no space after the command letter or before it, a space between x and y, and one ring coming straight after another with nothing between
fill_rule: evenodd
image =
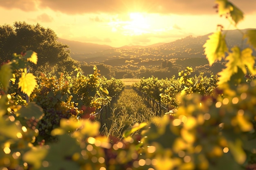
<instances>
[{"instance_id":1,"label":"bright yellow pointed grape leaf at left, below a smaller yellow leaf","mask_svg":"<svg viewBox=\"0 0 256 170\"><path fill-rule=\"evenodd\" d=\"M21 74L20 80L18 82L18 88L21 88L22 92L30 96L36 85L36 77L32 73Z\"/></svg>"}]
</instances>

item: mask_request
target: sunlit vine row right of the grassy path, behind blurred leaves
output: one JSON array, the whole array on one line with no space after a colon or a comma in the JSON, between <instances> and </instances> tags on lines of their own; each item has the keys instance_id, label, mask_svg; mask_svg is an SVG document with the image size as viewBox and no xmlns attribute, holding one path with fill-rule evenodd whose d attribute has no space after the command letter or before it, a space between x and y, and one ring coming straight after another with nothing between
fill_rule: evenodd
<instances>
[{"instance_id":1,"label":"sunlit vine row right of the grassy path, behind blurred leaves","mask_svg":"<svg viewBox=\"0 0 256 170\"><path fill-rule=\"evenodd\" d=\"M201 73L199 76L192 76L193 68L187 67L184 71L179 72L179 78L172 77L171 79L158 79L157 77L149 77L141 79L132 87L152 98L159 105L173 110L177 108L180 101L177 100L177 94L189 95L191 93L199 93L200 95L214 95L217 87L217 75L211 77L204 76Z\"/></svg>"}]
</instances>

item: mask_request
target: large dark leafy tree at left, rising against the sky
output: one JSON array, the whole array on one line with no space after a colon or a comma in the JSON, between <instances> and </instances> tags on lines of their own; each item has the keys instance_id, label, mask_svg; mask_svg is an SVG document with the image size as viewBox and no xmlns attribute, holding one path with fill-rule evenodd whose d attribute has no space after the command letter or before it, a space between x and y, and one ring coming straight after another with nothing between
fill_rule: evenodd
<instances>
[{"instance_id":1,"label":"large dark leafy tree at left, rising against the sky","mask_svg":"<svg viewBox=\"0 0 256 170\"><path fill-rule=\"evenodd\" d=\"M45 29L40 24L30 25L26 22L14 22L13 26L0 26L0 62L11 60L13 53L24 53L33 50L38 54L38 64L56 66L59 71L73 71L78 62L70 57L66 44L58 42L58 37L52 29ZM67 64L68 63L68 64Z\"/></svg>"}]
</instances>

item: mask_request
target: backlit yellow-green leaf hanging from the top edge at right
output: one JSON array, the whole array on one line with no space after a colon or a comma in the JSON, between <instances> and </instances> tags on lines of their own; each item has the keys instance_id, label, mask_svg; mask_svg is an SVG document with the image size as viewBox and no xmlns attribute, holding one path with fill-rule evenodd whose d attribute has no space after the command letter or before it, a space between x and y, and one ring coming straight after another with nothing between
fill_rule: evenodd
<instances>
[{"instance_id":1,"label":"backlit yellow-green leaf hanging from the top edge at right","mask_svg":"<svg viewBox=\"0 0 256 170\"><path fill-rule=\"evenodd\" d=\"M215 2L218 4L218 13L220 16L229 13L235 24L243 20L243 12L228 0L216 0Z\"/></svg>"}]
</instances>

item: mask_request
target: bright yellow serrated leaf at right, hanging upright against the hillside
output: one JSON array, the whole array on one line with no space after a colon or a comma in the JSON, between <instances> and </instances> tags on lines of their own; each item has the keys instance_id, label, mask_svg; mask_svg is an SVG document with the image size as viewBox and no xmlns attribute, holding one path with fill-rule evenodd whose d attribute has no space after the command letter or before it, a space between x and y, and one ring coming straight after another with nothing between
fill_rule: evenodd
<instances>
[{"instance_id":1,"label":"bright yellow serrated leaf at right, hanging upright against the hillside","mask_svg":"<svg viewBox=\"0 0 256 170\"><path fill-rule=\"evenodd\" d=\"M216 60L222 60L225 57L225 52L228 51L225 36L222 36L221 31L213 33L209 36L209 40L203 45L204 54L206 55L209 65L211 66Z\"/></svg>"}]
</instances>

